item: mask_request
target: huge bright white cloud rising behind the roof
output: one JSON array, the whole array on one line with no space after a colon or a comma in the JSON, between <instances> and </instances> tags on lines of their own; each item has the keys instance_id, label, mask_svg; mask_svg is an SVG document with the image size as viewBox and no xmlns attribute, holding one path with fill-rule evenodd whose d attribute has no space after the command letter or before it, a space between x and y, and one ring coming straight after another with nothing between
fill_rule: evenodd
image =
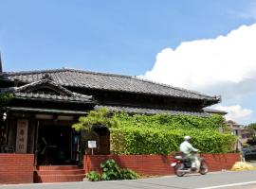
<instances>
[{"instance_id":1,"label":"huge bright white cloud rising behind the roof","mask_svg":"<svg viewBox=\"0 0 256 189\"><path fill-rule=\"evenodd\" d=\"M210 94L256 93L256 24L227 36L181 43L157 54L142 77Z\"/></svg>"}]
</instances>

